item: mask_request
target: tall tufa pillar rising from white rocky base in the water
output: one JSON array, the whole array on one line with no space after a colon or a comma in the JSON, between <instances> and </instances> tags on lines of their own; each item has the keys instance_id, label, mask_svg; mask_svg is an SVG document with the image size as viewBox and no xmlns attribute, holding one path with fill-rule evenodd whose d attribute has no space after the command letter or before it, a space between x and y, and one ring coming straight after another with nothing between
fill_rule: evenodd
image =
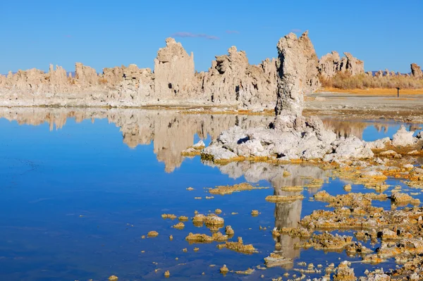
<instances>
[{"instance_id":1,"label":"tall tufa pillar rising from white rocky base in the water","mask_svg":"<svg viewBox=\"0 0 423 281\"><path fill-rule=\"evenodd\" d=\"M278 94L276 118L269 127L243 130L232 127L202 150L202 158L212 161L262 159L278 161L341 162L350 158L372 158L372 149L410 146L419 142L405 127L393 139L363 142L357 137L337 137L326 130L317 117L302 116L304 94L314 87L317 56L307 33L298 38L286 35L278 42ZM314 73L315 71L315 73ZM310 75L314 73L314 75Z\"/></svg>"}]
</instances>

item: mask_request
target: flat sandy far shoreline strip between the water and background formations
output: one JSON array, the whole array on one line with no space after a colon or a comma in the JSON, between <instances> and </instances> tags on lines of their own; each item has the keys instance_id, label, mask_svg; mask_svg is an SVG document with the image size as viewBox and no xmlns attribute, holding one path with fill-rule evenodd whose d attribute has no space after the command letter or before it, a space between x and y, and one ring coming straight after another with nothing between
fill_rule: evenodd
<instances>
[{"instance_id":1,"label":"flat sandy far shoreline strip between the water and background formations","mask_svg":"<svg viewBox=\"0 0 423 281\"><path fill-rule=\"evenodd\" d=\"M365 99L363 99L365 98ZM7 104L0 108L101 108L171 110L184 114L242 114L274 115L274 108L245 109L236 105L190 103L145 104L142 106L110 106L101 104ZM422 108L422 109L419 109ZM319 115L341 120L395 120L407 123L423 123L423 94L403 95L392 98L381 95L317 92L305 96L304 114Z\"/></svg>"}]
</instances>

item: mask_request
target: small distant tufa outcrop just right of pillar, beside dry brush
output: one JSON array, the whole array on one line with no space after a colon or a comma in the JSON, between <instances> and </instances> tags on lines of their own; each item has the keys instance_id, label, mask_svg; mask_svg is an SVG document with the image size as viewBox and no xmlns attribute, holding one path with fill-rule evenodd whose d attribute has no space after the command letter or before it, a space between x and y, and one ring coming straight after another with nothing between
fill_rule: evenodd
<instances>
[{"instance_id":1,"label":"small distant tufa outcrop just right of pillar, beside dry brush","mask_svg":"<svg viewBox=\"0 0 423 281\"><path fill-rule=\"evenodd\" d=\"M364 62L345 52L340 58L337 51L321 56L319 60L319 73L321 77L330 78L338 73L358 75L364 73Z\"/></svg>"}]
</instances>

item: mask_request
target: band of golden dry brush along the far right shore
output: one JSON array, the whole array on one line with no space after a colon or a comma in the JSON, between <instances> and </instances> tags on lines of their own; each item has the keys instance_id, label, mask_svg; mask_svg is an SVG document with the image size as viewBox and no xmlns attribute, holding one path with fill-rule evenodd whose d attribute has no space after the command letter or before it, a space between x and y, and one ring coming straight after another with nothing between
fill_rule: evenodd
<instances>
[{"instance_id":1,"label":"band of golden dry brush along the far right shore","mask_svg":"<svg viewBox=\"0 0 423 281\"><path fill-rule=\"evenodd\" d=\"M325 88L336 89L423 89L423 79L407 76L369 76L366 74L347 75L338 73L337 75L325 79L320 77L321 85Z\"/></svg>"}]
</instances>

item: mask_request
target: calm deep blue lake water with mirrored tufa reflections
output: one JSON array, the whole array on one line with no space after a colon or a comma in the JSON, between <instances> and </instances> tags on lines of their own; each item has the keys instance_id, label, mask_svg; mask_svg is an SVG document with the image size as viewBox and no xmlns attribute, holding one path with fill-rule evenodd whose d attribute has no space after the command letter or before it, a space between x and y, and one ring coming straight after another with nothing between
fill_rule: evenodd
<instances>
[{"instance_id":1,"label":"calm deep blue lake water with mirrored tufa reflections","mask_svg":"<svg viewBox=\"0 0 423 281\"><path fill-rule=\"evenodd\" d=\"M183 158L180 152L200 139L208 144L233 125L265 125L272 119L130 109L0 108L2 279L107 280L117 275L119 280L159 280L170 270L172 280L220 280L223 264L230 270L264 266L263 258L275 249L271 230L298 225L303 216L326 205L309 201L312 194L321 189L343 194L345 182L327 178L325 171L314 166L216 166L202 162L199 156ZM391 137L400 126L386 121L325 119L324 123L340 136L353 133L364 140ZM283 177L283 170L291 175ZM272 204L264 200L278 193L275 188L305 184L305 177L328 182L320 189L303 192L303 201ZM205 199L210 196L206 187L240 182L270 188ZM403 185L398 180L388 183ZM353 192L373 190L353 185ZM389 208L388 201L375 204ZM185 241L189 232L210 235L210 230L190 221L183 230L176 230L171 226L178 220L161 218L162 213L192 217L195 211L207 214L216 208L223 211L225 225L235 230L234 239L243 237L245 244L253 244L259 253L219 250L216 243L189 244ZM259 216L251 216L253 209L259 210ZM260 226L267 229L260 230ZM159 236L141 238L151 230ZM172 241L169 235L173 235ZM278 241L286 256L294 259L292 265L256 268L247 276L228 273L225 280L261 280L260 275L269 280L287 271L291 277L300 276L293 271L300 268L300 261L324 267L331 262L338 265L338 258L360 261L345 252L293 249L299 239L283 236ZM378 245L366 246L375 249ZM195 247L199 251L193 251ZM394 265L353 266L360 275L366 268Z\"/></svg>"}]
</instances>

